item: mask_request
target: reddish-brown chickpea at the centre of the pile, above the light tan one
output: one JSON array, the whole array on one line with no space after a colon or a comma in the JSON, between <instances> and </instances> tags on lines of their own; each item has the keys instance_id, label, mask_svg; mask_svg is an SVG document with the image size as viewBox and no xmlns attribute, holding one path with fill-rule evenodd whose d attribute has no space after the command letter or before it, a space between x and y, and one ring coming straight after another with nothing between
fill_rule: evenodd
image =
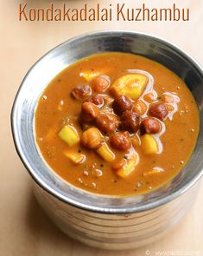
<instances>
[{"instance_id":1,"label":"reddish-brown chickpea at the centre of the pile, above the light tan one","mask_svg":"<svg viewBox=\"0 0 203 256\"><path fill-rule=\"evenodd\" d=\"M96 120L96 124L99 130L106 134L111 134L115 132L118 127L117 116L113 114L100 115Z\"/></svg>"}]
</instances>

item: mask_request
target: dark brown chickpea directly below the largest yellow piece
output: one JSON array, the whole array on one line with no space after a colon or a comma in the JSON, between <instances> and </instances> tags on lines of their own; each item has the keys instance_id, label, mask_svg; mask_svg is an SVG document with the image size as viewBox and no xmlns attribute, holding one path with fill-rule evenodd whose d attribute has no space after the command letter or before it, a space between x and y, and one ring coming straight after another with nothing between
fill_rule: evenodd
<instances>
[{"instance_id":1,"label":"dark brown chickpea directly below the largest yellow piece","mask_svg":"<svg viewBox=\"0 0 203 256\"><path fill-rule=\"evenodd\" d=\"M132 108L132 102L129 97L119 95L112 103L112 108L115 113L121 115L124 111Z\"/></svg>"}]
</instances>

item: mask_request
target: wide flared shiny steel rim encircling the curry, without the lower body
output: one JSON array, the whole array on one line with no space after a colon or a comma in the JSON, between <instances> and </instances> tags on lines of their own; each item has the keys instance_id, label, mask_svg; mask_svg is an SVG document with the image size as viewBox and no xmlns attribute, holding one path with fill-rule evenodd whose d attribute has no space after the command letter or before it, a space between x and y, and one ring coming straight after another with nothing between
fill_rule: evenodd
<instances>
[{"instance_id":1,"label":"wide flared shiny steel rim encircling the curry, without the lower body","mask_svg":"<svg viewBox=\"0 0 203 256\"><path fill-rule=\"evenodd\" d=\"M106 51L135 53L162 63L187 83L200 109L200 135L186 167L168 184L149 194L113 198L69 186L54 172L50 172L35 144L35 107L48 82L69 64ZM29 69L16 95L11 121L16 149L29 173L48 193L74 207L98 213L146 211L174 200L192 187L203 174L203 70L180 49L154 36L105 31L78 36L60 44Z\"/></svg>"}]
</instances>

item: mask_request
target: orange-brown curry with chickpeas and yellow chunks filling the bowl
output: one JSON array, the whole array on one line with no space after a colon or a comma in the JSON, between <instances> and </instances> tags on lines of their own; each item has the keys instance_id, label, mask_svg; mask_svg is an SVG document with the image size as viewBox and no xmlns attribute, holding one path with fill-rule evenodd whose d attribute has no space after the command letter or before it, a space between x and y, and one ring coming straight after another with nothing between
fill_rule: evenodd
<instances>
[{"instance_id":1,"label":"orange-brown curry with chickpeas and yellow chunks filling the bowl","mask_svg":"<svg viewBox=\"0 0 203 256\"><path fill-rule=\"evenodd\" d=\"M143 194L170 181L193 153L199 126L181 78L158 62L117 52L68 66L35 110L45 161L96 194Z\"/></svg>"}]
</instances>

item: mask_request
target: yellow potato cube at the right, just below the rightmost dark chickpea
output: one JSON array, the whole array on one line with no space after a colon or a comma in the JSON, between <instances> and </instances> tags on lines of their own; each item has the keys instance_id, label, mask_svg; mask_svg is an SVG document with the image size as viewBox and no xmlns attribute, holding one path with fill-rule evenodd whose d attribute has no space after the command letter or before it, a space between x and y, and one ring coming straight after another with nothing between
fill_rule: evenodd
<instances>
[{"instance_id":1,"label":"yellow potato cube at the right, just below the rightmost dark chickpea","mask_svg":"<svg viewBox=\"0 0 203 256\"><path fill-rule=\"evenodd\" d=\"M143 135L141 137L141 148L143 154L155 154L158 152L158 143L152 135Z\"/></svg>"}]
</instances>

